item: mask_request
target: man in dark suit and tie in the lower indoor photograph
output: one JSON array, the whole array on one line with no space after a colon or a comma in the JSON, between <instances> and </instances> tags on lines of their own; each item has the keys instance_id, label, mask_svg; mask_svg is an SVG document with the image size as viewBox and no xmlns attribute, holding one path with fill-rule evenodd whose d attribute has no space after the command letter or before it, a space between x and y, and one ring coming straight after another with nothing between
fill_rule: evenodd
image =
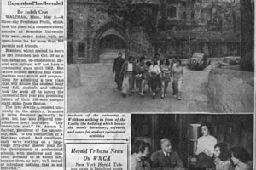
<instances>
[{"instance_id":1,"label":"man in dark suit and tie in the lower indoor photograph","mask_svg":"<svg viewBox=\"0 0 256 170\"><path fill-rule=\"evenodd\" d=\"M178 153L172 150L172 143L170 139L161 139L160 145L161 150L154 152L150 158L152 161L152 167L183 167L183 161L181 161Z\"/></svg>"}]
</instances>

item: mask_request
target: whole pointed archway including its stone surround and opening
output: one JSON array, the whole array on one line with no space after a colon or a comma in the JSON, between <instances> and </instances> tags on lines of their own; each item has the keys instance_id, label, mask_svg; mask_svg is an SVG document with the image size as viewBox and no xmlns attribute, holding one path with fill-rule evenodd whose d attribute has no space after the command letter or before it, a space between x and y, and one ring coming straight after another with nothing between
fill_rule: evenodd
<instances>
[{"instance_id":1,"label":"whole pointed archway including its stone surround and opening","mask_svg":"<svg viewBox=\"0 0 256 170\"><path fill-rule=\"evenodd\" d=\"M102 26L93 39L93 56L97 62L113 62L118 53L127 54L127 36L122 26L109 22Z\"/></svg>"}]
</instances>

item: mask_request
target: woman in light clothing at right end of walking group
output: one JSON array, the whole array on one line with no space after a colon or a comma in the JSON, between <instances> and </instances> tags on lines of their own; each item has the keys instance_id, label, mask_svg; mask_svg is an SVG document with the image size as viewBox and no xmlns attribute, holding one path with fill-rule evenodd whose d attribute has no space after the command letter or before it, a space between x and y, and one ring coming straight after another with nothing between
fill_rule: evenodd
<instances>
[{"instance_id":1,"label":"woman in light clothing at right end of walking group","mask_svg":"<svg viewBox=\"0 0 256 170\"><path fill-rule=\"evenodd\" d=\"M181 65L181 60L177 59L176 65L172 67L172 86L173 86L173 95L177 95L177 99L181 100L180 98L180 88L181 84L183 83L183 67Z\"/></svg>"}]
</instances>

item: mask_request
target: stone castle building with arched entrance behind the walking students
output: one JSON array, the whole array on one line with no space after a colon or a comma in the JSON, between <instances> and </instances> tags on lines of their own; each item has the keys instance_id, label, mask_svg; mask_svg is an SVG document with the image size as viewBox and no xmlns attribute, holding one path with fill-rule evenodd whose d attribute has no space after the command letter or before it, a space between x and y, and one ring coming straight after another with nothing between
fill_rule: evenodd
<instances>
[{"instance_id":1,"label":"stone castle building with arched entrance behind the walking students","mask_svg":"<svg viewBox=\"0 0 256 170\"><path fill-rule=\"evenodd\" d=\"M223 20L214 13L209 19L208 12L200 6L201 0L130 1L138 8L148 5L156 9L155 42L143 27L127 28L122 19L99 10L105 4L97 0L67 0L67 62L99 62L106 49L124 52L126 57L147 58L154 54L189 58L193 52L204 52L210 57L239 55L239 37L224 32Z\"/></svg>"}]
</instances>

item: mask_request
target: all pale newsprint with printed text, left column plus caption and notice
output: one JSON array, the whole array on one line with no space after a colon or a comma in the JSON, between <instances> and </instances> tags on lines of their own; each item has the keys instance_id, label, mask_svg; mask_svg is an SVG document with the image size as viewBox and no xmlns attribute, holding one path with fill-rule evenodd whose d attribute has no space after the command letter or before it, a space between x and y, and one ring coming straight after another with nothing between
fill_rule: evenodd
<instances>
[{"instance_id":1,"label":"all pale newsprint with printed text, left column plus caption and notice","mask_svg":"<svg viewBox=\"0 0 256 170\"><path fill-rule=\"evenodd\" d=\"M129 167L130 115L65 110L66 4L2 2L3 170Z\"/></svg>"}]
</instances>

